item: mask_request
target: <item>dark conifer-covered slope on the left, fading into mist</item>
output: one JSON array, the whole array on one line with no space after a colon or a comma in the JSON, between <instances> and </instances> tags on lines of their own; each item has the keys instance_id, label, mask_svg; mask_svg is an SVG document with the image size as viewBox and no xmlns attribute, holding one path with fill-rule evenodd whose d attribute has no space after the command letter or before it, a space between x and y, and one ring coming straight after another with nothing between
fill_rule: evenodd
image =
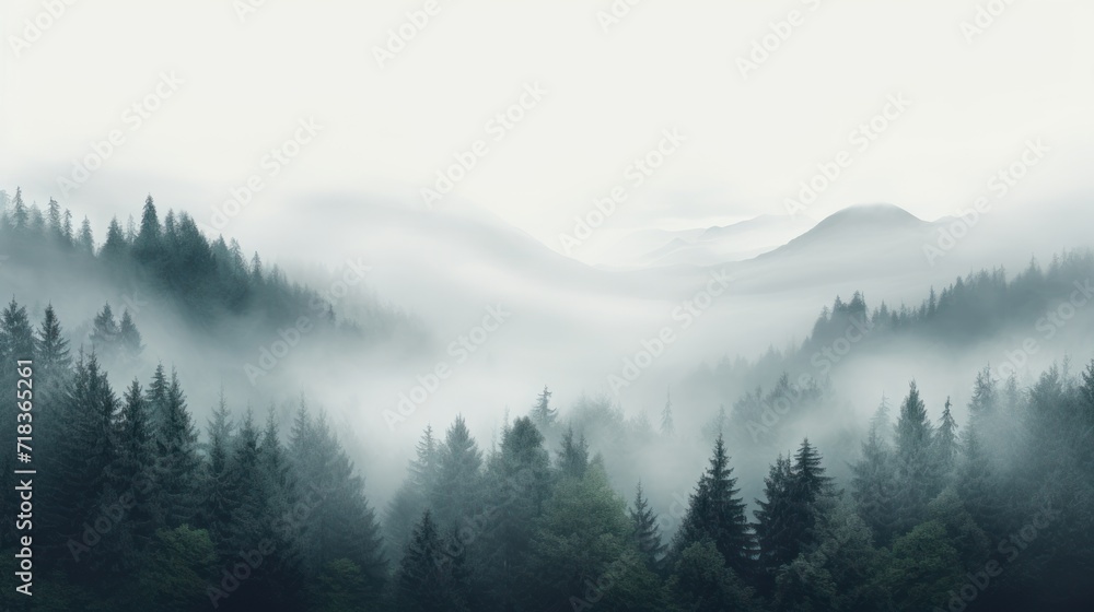
<instances>
[{"instance_id":1,"label":"dark conifer-covered slope on the left, fading into mist","mask_svg":"<svg viewBox=\"0 0 1094 612\"><path fill-rule=\"evenodd\" d=\"M144 323L146 333L177 339L165 329L177 322L199 338L217 338L218 353L240 356L302 318L310 330L360 351L420 342L409 315L358 295L369 282L368 266L350 262L326 278L314 275L314 289L290 281L257 252L246 256L234 239L208 238L186 212L167 211L161 220L151 196L139 221L130 216L124 226L113 219L102 240L86 217L77 226L56 200L42 210L27 205L19 189L8 200L4 193L0 201L0 243L10 254L0 281L35 311L50 299L66 316L78 303L91 302L95 310L105 303Z\"/></svg>"}]
</instances>

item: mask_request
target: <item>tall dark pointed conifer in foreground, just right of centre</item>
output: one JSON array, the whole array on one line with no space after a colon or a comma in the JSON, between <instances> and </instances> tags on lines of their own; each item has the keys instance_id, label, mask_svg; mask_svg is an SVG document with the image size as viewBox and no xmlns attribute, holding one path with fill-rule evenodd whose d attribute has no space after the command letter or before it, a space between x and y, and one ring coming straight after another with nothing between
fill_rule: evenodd
<instances>
[{"instance_id":1,"label":"tall dark pointed conifer in foreground, just right of centre","mask_svg":"<svg viewBox=\"0 0 1094 612\"><path fill-rule=\"evenodd\" d=\"M755 542L736 484L725 443L719 435L710 466L691 494L673 550L678 555L691 544L710 540L730 568L738 576L747 576L752 574Z\"/></svg>"}]
</instances>

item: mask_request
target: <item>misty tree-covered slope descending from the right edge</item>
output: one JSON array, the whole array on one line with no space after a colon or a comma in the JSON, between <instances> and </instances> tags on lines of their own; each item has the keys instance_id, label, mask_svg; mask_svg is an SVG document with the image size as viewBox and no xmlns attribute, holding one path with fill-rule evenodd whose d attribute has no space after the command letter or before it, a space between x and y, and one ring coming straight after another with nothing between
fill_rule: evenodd
<instances>
[{"instance_id":1,"label":"misty tree-covered slope descending from the right edge","mask_svg":"<svg viewBox=\"0 0 1094 612\"><path fill-rule=\"evenodd\" d=\"M871 307L860 292L849 301L837 296L799 345L755 360L726 356L696 370L685 389L733 405L729 416L743 424L756 416L763 389L804 393L827 381L848 393L861 388L870 364L919 364L920 376L932 377L990 364L996 381L1029 381L1054 360L1094 356L1085 341L1094 331L1092 281L1094 251L1087 249L1060 254L1047 267L1031 261L1013 279L1000 268L970 272L910 306L882 301ZM929 355L926 364L919 355Z\"/></svg>"}]
</instances>

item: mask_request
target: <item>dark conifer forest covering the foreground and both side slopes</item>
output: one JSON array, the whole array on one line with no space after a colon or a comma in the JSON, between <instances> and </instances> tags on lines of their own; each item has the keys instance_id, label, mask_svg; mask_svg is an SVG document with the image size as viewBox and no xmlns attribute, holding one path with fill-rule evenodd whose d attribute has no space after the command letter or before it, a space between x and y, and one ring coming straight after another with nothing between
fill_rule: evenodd
<instances>
[{"instance_id":1,"label":"dark conifer forest covering the foreground and both side slopes","mask_svg":"<svg viewBox=\"0 0 1094 612\"><path fill-rule=\"evenodd\" d=\"M16 192L0 239L164 282L160 294L195 308L277 317L280 302L311 295L257 256L246 267L237 246L210 244L185 215L161 223L151 198L139 229L112 223L102 245L86 224L73 235L69 216ZM907 333L945 326L957 308L1024 313L1063 268L1094 266L1072 254L1013 283L970 276L940 299L932 291L918 311L883 306L872 320ZM210 289L220 284L235 293ZM1016 297L981 298L989 290ZM270 297L248 306L256 292ZM849 310L865 316L861 296L826 308L802 354ZM550 389L529 389L528 409L489 445L462 416L427 426L401 486L379 501L370 466L354 464L306 397L289 399L282 420L222 393L199 422L187 392L199 381L170 362L115 376L140 369L148 350L128 310L104 305L86 319L90 332L73 338L51 305L34 319L19 296L0 317L0 387L33 369L33 410L4 402L0 421L33 438L37 473L23 490L33 489L34 610L1008 611L1094 600L1094 362L1074 372L1064 360L1028 386L986 367L968 380L963 423L948 400L928 407L908 372L904 397L859 423L850 450L804 437L760 457L755 483L737 469L738 454L755 462L768 448L745 435L749 411L785 393L789 372L766 399L746 393L701 431L676 427L684 408L671 399L654 426L596 401L560 409ZM328 325L360 330L334 315ZM788 370L793 358L781 362ZM13 366L24 362L33 366ZM819 410L829 392L815 382L798 395ZM616 455L696 443L706 467L671 476L688 491L678 520L659 514L641 474L620 483ZM20 455L0 460L3 515L22 516L11 494L24 478ZM0 534L3 573L18 576L16 523ZM0 597L5 610L26 608L13 589Z\"/></svg>"}]
</instances>

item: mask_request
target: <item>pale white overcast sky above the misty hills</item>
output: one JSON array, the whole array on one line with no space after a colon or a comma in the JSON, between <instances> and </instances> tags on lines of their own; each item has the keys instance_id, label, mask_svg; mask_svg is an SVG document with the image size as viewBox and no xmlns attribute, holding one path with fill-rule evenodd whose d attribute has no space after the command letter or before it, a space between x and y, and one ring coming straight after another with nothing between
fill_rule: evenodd
<instances>
[{"instance_id":1,"label":"pale white overcast sky above the misty hills","mask_svg":"<svg viewBox=\"0 0 1094 612\"><path fill-rule=\"evenodd\" d=\"M618 3L622 4L620 0ZM101 214L151 191L199 220L274 145L314 117L319 137L267 180L244 217L327 192L420 205L419 191L476 139L489 153L450 198L488 209L558 249L559 232L676 128L678 153L631 190L613 223L668 228L780 213L817 163L884 106L912 101L810 210L886 201L934 219L985 190L1026 139L1051 146L1024 199L1086 190L1094 162L1094 5L1015 0L971 44L961 23L986 0L643 0L604 32L610 0L439 0L440 12L381 69L373 48L424 2L77 1L21 47L40 1L0 9L0 187ZM813 10L815 8L815 10ZM743 79L769 23L804 23ZM45 17L40 17L45 20ZM140 127L123 113L162 72L184 83ZM525 83L547 94L496 143L486 122ZM104 167L60 197L58 175L121 129ZM443 203L441 204L443 205ZM101 229L100 229L101 232ZM101 235L101 234L100 234Z\"/></svg>"}]
</instances>

